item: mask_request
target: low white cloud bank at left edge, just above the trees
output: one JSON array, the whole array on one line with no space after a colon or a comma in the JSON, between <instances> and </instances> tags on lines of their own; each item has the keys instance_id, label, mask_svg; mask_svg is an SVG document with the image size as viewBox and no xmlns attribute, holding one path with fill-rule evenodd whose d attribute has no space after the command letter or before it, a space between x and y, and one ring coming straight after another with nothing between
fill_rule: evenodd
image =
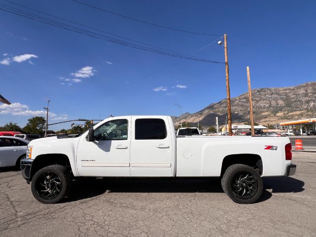
<instances>
[{"instance_id":1,"label":"low white cloud bank at left edge, just above the trees","mask_svg":"<svg viewBox=\"0 0 316 237\"><path fill-rule=\"evenodd\" d=\"M44 110L30 110L28 105L23 105L21 103L12 103L11 105L2 104L0 105L1 114L13 115L13 116L45 116L46 111ZM56 115L49 112L49 117L52 120L67 119L67 115Z\"/></svg>"}]
</instances>

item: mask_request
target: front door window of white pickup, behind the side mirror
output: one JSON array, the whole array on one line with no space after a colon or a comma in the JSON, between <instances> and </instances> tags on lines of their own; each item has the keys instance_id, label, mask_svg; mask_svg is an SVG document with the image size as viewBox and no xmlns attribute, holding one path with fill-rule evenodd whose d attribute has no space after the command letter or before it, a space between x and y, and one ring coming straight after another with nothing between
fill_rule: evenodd
<instances>
[{"instance_id":1,"label":"front door window of white pickup, behind the side mirror","mask_svg":"<svg viewBox=\"0 0 316 237\"><path fill-rule=\"evenodd\" d=\"M116 119L103 123L94 130L94 139L103 140L127 140L128 120Z\"/></svg>"}]
</instances>

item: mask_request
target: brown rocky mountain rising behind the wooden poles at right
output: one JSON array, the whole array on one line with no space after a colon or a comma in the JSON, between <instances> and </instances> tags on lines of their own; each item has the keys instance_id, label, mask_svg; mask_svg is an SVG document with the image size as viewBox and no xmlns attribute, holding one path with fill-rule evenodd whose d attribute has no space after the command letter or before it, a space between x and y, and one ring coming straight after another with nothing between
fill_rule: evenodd
<instances>
[{"instance_id":1,"label":"brown rocky mountain rising behind the wooden poles at right","mask_svg":"<svg viewBox=\"0 0 316 237\"><path fill-rule=\"evenodd\" d=\"M254 121L260 124L275 124L282 121L316 117L316 82L307 82L292 87L259 88L251 90ZM249 118L248 92L231 98L232 122L243 123ZM215 118L225 124L227 99L213 103L197 113L185 113L182 121L214 126ZM180 117L173 117L180 122Z\"/></svg>"}]
</instances>

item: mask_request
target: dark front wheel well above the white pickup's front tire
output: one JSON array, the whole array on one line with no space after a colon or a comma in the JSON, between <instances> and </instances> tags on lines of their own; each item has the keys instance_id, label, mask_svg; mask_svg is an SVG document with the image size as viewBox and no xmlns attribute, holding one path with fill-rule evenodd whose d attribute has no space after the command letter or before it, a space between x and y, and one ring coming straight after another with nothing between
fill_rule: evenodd
<instances>
[{"instance_id":1,"label":"dark front wheel well above the white pickup's front tire","mask_svg":"<svg viewBox=\"0 0 316 237\"><path fill-rule=\"evenodd\" d=\"M60 164L65 166L67 169L71 169L69 158L65 154L43 154L37 156L32 162L30 181L32 181L35 173L41 168L53 164Z\"/></svg>"}]
</instances>

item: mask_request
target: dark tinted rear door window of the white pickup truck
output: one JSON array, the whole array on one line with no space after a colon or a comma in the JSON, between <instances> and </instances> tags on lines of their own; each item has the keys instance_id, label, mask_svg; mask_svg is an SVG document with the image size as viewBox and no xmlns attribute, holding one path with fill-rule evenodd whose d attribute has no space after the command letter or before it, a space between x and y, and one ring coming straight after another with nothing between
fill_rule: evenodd
<instances>
[{"instance_id":1,"label":"dark tinted rear door window of the white pickup truck","mask_svg":"<svg viewBox=\"0 0 316 237\"><path fill-rule=\"evenodd\" d=\"M164 139L166 124L160 118L138 118L135 121L135 140Z\"/></svg>"}]
</instances>

